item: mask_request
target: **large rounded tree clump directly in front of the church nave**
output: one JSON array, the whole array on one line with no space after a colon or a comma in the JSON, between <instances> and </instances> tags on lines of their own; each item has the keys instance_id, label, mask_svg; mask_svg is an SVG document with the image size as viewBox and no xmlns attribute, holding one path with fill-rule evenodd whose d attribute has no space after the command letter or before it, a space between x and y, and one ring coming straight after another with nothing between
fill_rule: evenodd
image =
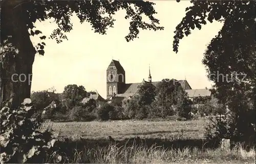
<instances>
[{"instance_id":1,"label":"large rounded tree clump directly in front of the church nave","mask_svg":"<svg viewBox=\"0 0 256 164\"><path fill-rule=\"evenodd\" d=\"M172 79L163 79L155 87L144 83L138 89L137 95L123 102L124 111L129 112L130 119L143 119L177 114L180 118L189 119L191 101L180 83Z\"/></svg>"}]
</instances>

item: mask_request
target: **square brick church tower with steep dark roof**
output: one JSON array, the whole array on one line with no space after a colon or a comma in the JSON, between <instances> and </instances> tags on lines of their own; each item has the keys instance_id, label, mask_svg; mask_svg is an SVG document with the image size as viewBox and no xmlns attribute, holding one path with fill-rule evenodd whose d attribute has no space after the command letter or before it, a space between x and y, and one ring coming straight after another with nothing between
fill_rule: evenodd
<instances>
[{"instance_id":1,"label":"square brick church tower with steep dark roof","mask_svg":"<svg viewBox=\"0 0 256 164\"><path fill-rule=\"evenodd\" d=\"M125 85L125 71L117 60L112 60L106 69L106 98L122 93Z\"/></svg>"}]
</instances>

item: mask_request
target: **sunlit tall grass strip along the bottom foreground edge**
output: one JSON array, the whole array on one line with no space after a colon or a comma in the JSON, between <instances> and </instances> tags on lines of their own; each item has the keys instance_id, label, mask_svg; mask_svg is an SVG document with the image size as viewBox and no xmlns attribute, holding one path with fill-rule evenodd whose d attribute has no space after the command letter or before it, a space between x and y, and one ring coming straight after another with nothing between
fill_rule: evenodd
<instances>
[{"instance_id":1,"label":"sunlit tall grass strip along the bottom foreground edge","mask_svg":"<svg viewBox=\"0 0 256 164\"><path fill-rule=\"evenodd\" d=\"M53 161L56 158L49 156L47 161ZM220 148L212 150L199 150L198 148L164 149L163 147L152 146L122 146L109 145L103 148L87 149L75 151L70 159L63 161L65 163L255 163L255 149L245 151L241 145L232 150L221 150Z\"/></svg>"}]
</instances>

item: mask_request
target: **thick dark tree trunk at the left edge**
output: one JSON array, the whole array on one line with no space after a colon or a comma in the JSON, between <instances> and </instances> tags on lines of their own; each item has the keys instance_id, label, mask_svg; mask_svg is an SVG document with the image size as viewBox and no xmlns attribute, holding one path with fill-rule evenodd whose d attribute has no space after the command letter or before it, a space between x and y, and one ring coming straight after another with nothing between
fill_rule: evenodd
<instances>
[{"instance_id":1,"label":"thick dark tree trunk at the left edge","mask_svg":"<svg viewBox=\"0 0 256 164\"><path fill-rule=\"evenodd\" d=\"M27 28L28 15L21 1L5 1L1 13L0 106L12 100L16 108L30 98L35 49ZM7 40L5 42L4 40ZM7 45L9 43L9 45ZM10 43L12 45L10 45ZM8 51L5 49L7 48ZM14 49L11 51L11 49Z\"/></svg>"}]
</instances>

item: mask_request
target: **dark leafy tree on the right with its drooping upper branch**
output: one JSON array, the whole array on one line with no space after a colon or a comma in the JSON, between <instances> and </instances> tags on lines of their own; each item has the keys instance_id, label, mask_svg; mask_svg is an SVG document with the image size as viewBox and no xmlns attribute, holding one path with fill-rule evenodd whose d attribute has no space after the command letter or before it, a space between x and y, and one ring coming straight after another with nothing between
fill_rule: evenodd
<instances>
[{"instance_id":1,"label":"dark leafy tree on the right with its drooping upper branch","mask_svg":"<svg viewBox=\"0 0 256 164\"><path fill-rule=\"evenodd\" d=\"M255 2L191 1L186 16L176 27L173 42L178 52L179 41L191 30L206 25L206 20L223 22L204 53L203 64L209 80L215 82L212 93L234 112L232 139L241 140L250 123L255 123ZM217 124L216 124L217 125ZM246 137L249 137L248 134ZM244 139L244 138L243 138Z\"/></svg>"}]
</instances>

